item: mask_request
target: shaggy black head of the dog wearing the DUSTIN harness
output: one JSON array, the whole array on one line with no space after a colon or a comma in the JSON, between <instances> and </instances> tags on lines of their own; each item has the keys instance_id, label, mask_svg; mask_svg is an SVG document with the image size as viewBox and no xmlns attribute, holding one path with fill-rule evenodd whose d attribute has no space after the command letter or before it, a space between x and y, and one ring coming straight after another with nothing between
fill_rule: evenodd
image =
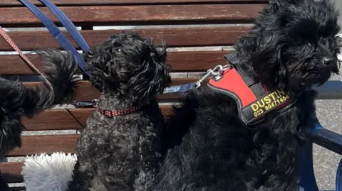
<instances>
[{"instance_id":1,"label":"shaggy black head of the dog wearing the DUSTIN harness","mask_svg":"<svg viewBox=\"0 0 342 191\"><path fill-rule=\"evenodd\" d=\"M337 20L328 0L274 0L236 48L266 87L302 91L338 74Z\"/></svg>"}]
</instances>

